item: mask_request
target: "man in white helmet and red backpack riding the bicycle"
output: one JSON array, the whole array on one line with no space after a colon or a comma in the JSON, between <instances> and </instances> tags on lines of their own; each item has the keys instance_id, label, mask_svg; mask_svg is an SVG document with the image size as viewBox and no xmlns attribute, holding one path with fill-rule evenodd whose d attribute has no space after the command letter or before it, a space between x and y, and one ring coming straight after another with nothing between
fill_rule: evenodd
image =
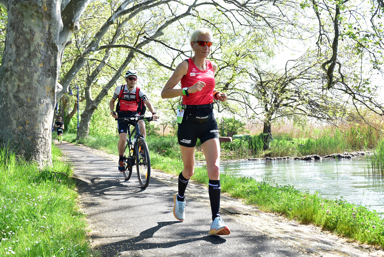
<instances>
[{"instance_id":1,"label":"man in white helmet and red backpack riding the bicycle","mask_svg":"<svg viewBox=\"0 0 384 257\"><path fill-rule=\"evenodd\" d=\"M152 113L152 118L156 120L158 118L156 111L152 108L151 101L147 98L144 90L137 88L136 81L138 79L136 70L128 70L125 73L126 84L118 86L114 91L111 101L109 101L109 109L111 110L111 115L113 118L131 118L136 115L137 108L142 102L146 104L149 111ZM139 90L138 92L136 92ZM136 99L138 96L138 99ZM115 106L116 99L118 103L116 104L116 112L113 110ZM144 113L141 113L144 114ZM142 135L146 136L146 128L143 120L139 121L140 132ZM119 171L124 171L124 149L127 141L127 131L128 124L124 121L118 121L118 131L119 131L119 142L118 142L118 151L119 151Z\"/></svg>"}]
</instances>

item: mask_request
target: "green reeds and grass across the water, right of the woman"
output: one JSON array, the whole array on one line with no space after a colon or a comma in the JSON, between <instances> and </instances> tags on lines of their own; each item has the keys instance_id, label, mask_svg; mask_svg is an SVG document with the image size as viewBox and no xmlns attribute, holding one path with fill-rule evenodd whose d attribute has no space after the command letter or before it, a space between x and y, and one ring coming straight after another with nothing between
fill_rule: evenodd
<instances>
[{"instance_id":1,"label":"green reeds and grass across the water, right of the woman","mask_svg":"<svg viewBox=\"0 0 384 257\"><path fill-rule=\"evenodd\" d=\"M300 133L299 133L300 132ZM250 139L235 139L223 143L222 149L237 152L243 157L301 157L317 154L329 154L362 151L376 147L381 135L371 126L352 125L348 128L306 128L277 132L271 139L269 149L263 150L263 134L252 135ZM299 137L295 137L299 136ZM248 144L248 146L247 146ZM248 149L247 149L248 147ZM228 156L228 155L224 155Z\"/></svg>"}]
</instances>

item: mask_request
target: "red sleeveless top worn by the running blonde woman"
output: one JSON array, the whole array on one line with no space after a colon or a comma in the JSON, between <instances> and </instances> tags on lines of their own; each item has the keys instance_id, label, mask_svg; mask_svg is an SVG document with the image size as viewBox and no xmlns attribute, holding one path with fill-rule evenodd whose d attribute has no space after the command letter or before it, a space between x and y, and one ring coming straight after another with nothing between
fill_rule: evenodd
<instances>
[{"instance_id":1,"label":"red sleeveless top worn by the running blonde woman","mask_svg":"<svg viewBox=\"0 0 384 257\"><path fill-rule=\"evenodd\" d=\"M189 96L183 96L183 104L209 104L213 103L213 92L215 88L214 68L209 60L205 60L207 69L199 70L191 58L188 59L187 74L181 78L181 87L190 87L195 85L197 81L205 83L201 91L190 93Z\"/></svg>"}]
</instances>

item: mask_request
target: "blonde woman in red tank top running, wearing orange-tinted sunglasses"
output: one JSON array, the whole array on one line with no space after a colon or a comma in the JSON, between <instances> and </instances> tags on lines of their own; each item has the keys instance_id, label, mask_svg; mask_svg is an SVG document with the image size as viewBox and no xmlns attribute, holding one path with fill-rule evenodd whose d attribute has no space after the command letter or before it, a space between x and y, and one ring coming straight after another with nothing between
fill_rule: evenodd
<instances>
[{"instance_id":1,"label":"blonde woman in red tank top running, wearing orange-tinted sunglasses","mask_svg":"<svg viewBox=\"0 0 384 257\"><path fill-rule=\"evenodd\" d=\"M190 36L194 56L182 61L164 86L161 97L182 96L183 108L177 110L179 141L184 169L179 175L179 191L174 195L173 214L179 221L185 218L185 189L194 174L197 138L207 162L208 193L212 211L211 235L229 235L230 230L220 218L220 144L218 125L213 113L213 99L226 101L227 95L215 91L217 65L206 58L210 53L213 35L209 29L200 28ZM174 87L181 81L180 89ZM180 123L181 121L181 123Z\"/></svg>"}]
</instances>

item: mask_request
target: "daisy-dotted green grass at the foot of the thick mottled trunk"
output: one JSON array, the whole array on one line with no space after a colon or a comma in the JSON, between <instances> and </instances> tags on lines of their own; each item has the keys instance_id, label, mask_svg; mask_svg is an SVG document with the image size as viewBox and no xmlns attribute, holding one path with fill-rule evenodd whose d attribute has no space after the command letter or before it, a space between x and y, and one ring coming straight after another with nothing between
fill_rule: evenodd
<instances>
[{"instance_id":1,"label":"daisy-dotted green grass at the foot of the thick mottled trunk","mask_svg":"<svg viewBox=\"0 0 384 257\"><path fill-rule=\"evenodd\" d=\"M38 169L0 149L0 256L92 256L69 163Z\"/></svg>"}]
</instances>

